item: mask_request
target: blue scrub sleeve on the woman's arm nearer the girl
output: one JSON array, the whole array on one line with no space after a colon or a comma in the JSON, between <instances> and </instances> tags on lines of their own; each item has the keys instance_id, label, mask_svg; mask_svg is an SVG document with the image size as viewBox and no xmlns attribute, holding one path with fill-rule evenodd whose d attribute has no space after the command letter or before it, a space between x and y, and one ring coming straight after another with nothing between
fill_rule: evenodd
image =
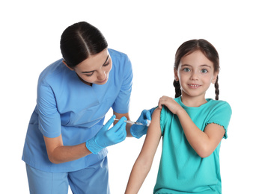
<instances>
[{"instance_id":1,"label":"blue scrub sleeve on the woman's arm nearer the girl","mask_svg":"<svg viewBox=\"0 0 256 194\"><path fill-rule=\"evenodd\" d=\"M123 74L122 85L112 108L117 113L128 113L129 100L132 93L132 63L127 56L121 63L123 63L121 64L123 68L120 69L120 72Z\"/></svg>"}]
</instances>

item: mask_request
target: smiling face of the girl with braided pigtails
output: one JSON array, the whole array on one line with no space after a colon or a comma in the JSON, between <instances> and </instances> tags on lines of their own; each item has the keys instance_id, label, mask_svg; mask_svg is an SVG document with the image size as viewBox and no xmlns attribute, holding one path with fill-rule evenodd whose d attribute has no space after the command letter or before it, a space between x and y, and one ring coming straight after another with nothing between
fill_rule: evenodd
<instances>
[{"instance_id":1,"label":"smiling face of the girl with braided pigtails","mask_svg":"<svg viewBox=\"0 0 256 194\"><path fill-rule=\"evenodd\" d=\"M201 51L194 51L181 58L174 69L175 80L180 81L182 96L205 99L210 84L215 84L219 72L214 72L213 62Z\"/></svg>"}]
</instances>

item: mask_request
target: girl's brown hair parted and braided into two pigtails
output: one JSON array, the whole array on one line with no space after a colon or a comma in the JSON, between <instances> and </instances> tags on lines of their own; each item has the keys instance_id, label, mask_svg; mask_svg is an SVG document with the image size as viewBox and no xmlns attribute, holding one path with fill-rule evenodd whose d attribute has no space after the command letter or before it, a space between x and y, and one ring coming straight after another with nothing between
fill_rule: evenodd
<instances>
[{"instance_id":1,"label":"girl's brown hair parted and braided into two pigtails","mask_svg":"<svg viewBox=\"0 0 256 194\"><path fill-rule=\"evenodd\" d=\"M183 56L191 54L193 51L201 51L204 53L205 57L213 62L214 72L219 72L219 54L216 51L216 48L209 43L207 40L199 39L199 40L189 40L183 43L176 51L175 54L175 62L174 62L174 69L178 69L180 64L180 60ZM219 84L218 84L219 77L217 76L216 83L215 83L215 94L216 100L219 100ZM175 98L181 96L180 90L180 81L174 80L174 87L175 87Z\"/></svg>"}]
</instances>

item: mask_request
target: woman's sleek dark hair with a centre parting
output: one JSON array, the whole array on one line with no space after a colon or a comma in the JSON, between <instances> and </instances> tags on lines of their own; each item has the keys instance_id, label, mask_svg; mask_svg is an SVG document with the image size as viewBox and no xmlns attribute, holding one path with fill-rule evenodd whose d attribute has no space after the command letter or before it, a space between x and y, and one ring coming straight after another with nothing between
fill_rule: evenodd
<instances>
[{"instance_id":1,"label":"woman's sleek dark hair with a centre parting","mask_svg":"<svg viewBox=\"0 0 256 194\"><path fill-rule=\"evenodd\" d=\"M88 22L70 25L61 35L61 54L70 68L107 47L103 34Z\"/></svg>"}]
</instances>

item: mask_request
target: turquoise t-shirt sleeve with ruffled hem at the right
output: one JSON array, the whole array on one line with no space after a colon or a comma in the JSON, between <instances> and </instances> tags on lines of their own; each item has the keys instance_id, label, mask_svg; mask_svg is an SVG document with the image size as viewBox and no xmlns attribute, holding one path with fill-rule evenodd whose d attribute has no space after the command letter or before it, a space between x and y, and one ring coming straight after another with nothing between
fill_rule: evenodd
<instances>
[{"instance_id":1,"label":"turquoise t-shirt sleeve with ruffled hem at the right","mask_svg":"<svg viewBox=\"0 0 256 194\"><path fill-rule=\"evenodd\" d=\"M226 101L220 101L219 104L216 104L213 107L213 111L211 112L210 119L207 121L206 125L210 123L215 123L218 125L223 126L225 129L225 135L224 138L228 138L228 125L231 119L231 106Z\"/></svg>"}]
</instances>

